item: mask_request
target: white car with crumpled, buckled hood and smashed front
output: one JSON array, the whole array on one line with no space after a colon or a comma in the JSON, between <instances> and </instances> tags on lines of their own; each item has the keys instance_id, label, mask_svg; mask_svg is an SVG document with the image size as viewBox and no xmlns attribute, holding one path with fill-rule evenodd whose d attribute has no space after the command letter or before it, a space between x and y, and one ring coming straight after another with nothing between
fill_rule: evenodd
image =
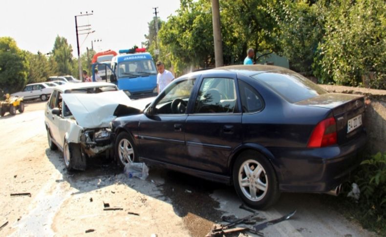
<instances>
[{"instance_id":1,"label":"white car with crumpled, buckled hood and smashed front","mask_svg":"<svg viewBox=\"0 0 386 237\"><path fill-rule=\"evenodd\" d=\"M110 122L129 108L129 97L110 83L67 83L56 86L45 108L51 150L63 151L68 170L85 170L86 157L107 152L112 157Z\"/></svg>"}]
</instances>

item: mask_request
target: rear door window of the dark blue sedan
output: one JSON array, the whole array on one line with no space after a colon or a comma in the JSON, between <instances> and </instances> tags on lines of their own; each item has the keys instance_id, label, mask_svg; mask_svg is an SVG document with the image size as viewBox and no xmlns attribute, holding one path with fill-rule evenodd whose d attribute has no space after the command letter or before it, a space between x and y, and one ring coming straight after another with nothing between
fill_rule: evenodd
<instances>
[{"instance_id":1,"label":"rear door window of the dark blue sedan","mask_svg":"<svg viewBox=\"0 0 386 237\"><path fill-rule=\"evenodd\" d=\"M232 78L204 78L194 105L194 113L233 113L236 87Z\"/></svg>"}]
</instances>

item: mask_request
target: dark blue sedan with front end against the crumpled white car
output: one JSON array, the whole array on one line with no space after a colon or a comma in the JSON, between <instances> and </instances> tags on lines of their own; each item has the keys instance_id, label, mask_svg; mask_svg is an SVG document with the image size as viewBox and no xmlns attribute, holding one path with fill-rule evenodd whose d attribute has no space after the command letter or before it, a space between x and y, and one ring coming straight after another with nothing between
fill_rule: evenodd
<instances>
[{"instance_id":1,"label":"dark blue sedan with front end against the crumpled white car","mask_svg":"<svg viewBox=\"0 0 386 237\"><path fill-rule=\"evenodd\" d=\"M233 184L261 209L280 192L337 194L361 162L364 116L362 96L328 93L281 67L239 65L184 75L111 126L122 165Z\"/></svg>"}]
</instances>

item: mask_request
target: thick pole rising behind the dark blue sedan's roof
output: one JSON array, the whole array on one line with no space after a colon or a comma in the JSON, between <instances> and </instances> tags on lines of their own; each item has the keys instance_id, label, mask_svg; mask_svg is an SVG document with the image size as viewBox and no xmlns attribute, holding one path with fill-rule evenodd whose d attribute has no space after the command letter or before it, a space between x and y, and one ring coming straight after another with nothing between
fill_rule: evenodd
<instances>
[{"instance_id":1,"label":"thick pole rising behind the dark blue sedan's roof","mask_svg":"<svg viewBox=\"0 0 386 237\"><path fill-rule=\"evenodd\" d=\"M224 59L222 55L220 4L218 0L212 0L212 21L214 39L214 60L216 63L216 67L219 67L224 65Z\"/></svg>"}]
</instances>

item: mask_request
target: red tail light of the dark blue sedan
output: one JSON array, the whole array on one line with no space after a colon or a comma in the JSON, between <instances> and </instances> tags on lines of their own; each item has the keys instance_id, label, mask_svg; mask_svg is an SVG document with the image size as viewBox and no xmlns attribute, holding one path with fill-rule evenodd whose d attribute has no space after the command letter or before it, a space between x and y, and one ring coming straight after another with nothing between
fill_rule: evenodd
<instances>
[{"instance_id":1,"label":"red tail light of the dark blue sedan","mask_svg":"<svg viewBox=\"0 0 386 237\"><path fill-rule=\"evenodd\" d=\"M337 143L337 126L335 118L322 120L312 131L307 147L327 147Z\"/></svg>"}]
</instances>

